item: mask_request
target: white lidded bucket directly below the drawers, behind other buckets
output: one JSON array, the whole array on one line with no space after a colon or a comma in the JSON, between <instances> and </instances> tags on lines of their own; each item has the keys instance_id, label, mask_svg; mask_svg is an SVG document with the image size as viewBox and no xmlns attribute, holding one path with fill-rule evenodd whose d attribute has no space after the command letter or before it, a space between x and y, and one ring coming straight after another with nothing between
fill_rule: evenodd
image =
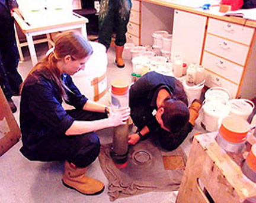
<instances>
[{"instance_id":1,"label":"white lidded bucket directly below the drawers, behind other buckets","mask_svg":"<svg viewBox=\"0 0 256 203\"><path fill-rule=\"evenodd\" d=\"M231 99L231 93L223 87L212 87L204 94L205 102L213 101L226 104Z\"/></svg>"}]
</instances>

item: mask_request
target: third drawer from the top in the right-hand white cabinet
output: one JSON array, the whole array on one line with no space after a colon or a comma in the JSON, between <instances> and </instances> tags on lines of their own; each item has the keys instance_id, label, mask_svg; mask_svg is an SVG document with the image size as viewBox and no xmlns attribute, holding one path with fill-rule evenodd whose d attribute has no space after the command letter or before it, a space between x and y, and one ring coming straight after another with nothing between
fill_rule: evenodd
<instances>
[{"instance_id":1,"label":"third drawer from the top in the right-hand white cabinet","mask_svg":"<svg viewBox=\"0 0 256 203\"><path fill-rule=\"evenodd\" d=\"M240 83L243 71L243 67L241 66L238 66L234 63L231 63L230 61L224 60L205 51L203 54L202 65L205 68L219 74L220 76L228 78L236 84Z\"/></svg>"}]
</instances>

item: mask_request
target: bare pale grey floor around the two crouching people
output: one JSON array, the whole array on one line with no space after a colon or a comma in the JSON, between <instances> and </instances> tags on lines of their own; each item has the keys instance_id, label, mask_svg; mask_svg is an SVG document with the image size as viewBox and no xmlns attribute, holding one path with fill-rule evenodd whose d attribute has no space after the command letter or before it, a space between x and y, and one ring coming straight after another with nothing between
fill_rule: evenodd
<instances>
[{"instance_id":1,"label":"bare pale grey floor around the two crouching people","mask_svg":"<svg viewBox=\"0 0 256 203\"><path fill-rule=\"evenodd\" d=\"M46 44L36 46L37 55L42 57L47 51ZM25 78L31 70L32 64L28 50L24 47L25 61L19 64L18 71ZM126 67L117 68L114 64L114 51L112 48L108 51L107 80L108 86L114 78L130 78L132 73L132 64L126 61ZM13 97L18 111L14 114L19 123L19 102L20 97ZM182 146L187 153L190 150L190 137L196 131L201 131L200 125L188 135ZM111 130L101 130L99 132L101 143L110 143L112 140ZM21 153L21 141L8 150L0 157L0 202L110 202L107 194L107 178L101 170L98 159L92 163L87 175L99 179L105 184L105 191L97 196L86 196L66 188L62 185L61 178L63 173L63 162L31 162ZM129 198L116 199L114 202L175 202L176 192L148 192L142 195L136 195Z\"/></svg>"}]
</instances>

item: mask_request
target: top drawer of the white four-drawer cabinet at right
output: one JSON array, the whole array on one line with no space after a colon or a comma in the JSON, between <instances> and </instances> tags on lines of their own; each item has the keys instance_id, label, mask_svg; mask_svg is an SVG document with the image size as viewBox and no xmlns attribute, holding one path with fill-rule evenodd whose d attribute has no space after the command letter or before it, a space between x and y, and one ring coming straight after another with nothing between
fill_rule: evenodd
<instances>
[{"instance_id":1,"label":"top drawer of the white four-drawer cabinet at right","mask_svg":"<svg viewBox=\"0 0 256 203\"><path fill-rule=\"evenodd\" d=\"M207 32L250 45L254 28L210 18Z\"/></svg>"}]
</instances>

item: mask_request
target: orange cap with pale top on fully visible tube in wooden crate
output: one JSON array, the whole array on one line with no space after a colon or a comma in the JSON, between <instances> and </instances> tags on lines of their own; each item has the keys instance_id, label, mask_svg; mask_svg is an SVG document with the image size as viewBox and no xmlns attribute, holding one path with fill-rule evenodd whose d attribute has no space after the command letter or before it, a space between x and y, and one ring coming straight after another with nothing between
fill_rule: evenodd
<instances>
[{"instance_id":1,"label":"orange cap with pale top on fully visible tube in wooden crate","mask_svg":"<svg viewBox=\"0 0 256 203\"><path fill-rule=\"evenodd\" d=\"M227 116L222 120L219 133L223 139L229 142L241 143L246 140L249 129L250 125L246 120L235 116Z\"/></svg>"}]
</instances>

